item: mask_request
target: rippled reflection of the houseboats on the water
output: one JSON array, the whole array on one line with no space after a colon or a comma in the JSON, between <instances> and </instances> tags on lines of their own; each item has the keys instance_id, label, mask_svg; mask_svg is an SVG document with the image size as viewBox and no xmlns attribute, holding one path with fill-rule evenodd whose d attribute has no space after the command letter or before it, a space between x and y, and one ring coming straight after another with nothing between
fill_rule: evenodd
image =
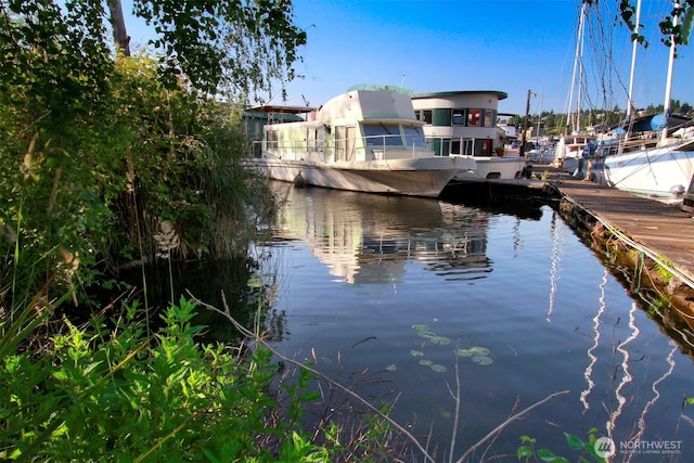
<instances>
[{"instance_id":1,"label":"rippled reflection of the houseboats on the water","mask_svg":"<svg viewBox=\"0 0 694 463\"><path fill-rule=\"evenodd\" d=\"M287 207L275 235L306 240L335 281L399 284L409 261L448 280L492 271L485 254L487 215L479 209L419 197L278 189Z\"/></svg>"}]
</instances>

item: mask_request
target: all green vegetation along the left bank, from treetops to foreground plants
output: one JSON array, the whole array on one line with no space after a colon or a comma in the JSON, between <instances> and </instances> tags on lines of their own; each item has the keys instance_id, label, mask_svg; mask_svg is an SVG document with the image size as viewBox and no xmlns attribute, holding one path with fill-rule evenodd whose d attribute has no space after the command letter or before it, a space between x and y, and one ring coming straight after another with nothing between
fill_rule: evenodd
<instances>
[{"instance_id":1,"label":"all green vegetation along the left bank, from treetops to foreground plants","mask_svg":"<svg viewBox=\"0 0 694 463\"><path fill-rule=\"evenodd\" d=\"M270 223L231 102L283 94L306 33L290 0L152 0L136 13L158 51L130 55L123 30L107 39L114 8L0 2L0 460L453 461L349 388L363 414L307 423L320 374L264 345L262 288L236 346L200 342L192 297L158 317L138 303L129 263L146 294L145 267L245 258ZM567 435L600 461L594 439ZM545 460L523 442L518 459Z\"/></svg>"}]
</instances>

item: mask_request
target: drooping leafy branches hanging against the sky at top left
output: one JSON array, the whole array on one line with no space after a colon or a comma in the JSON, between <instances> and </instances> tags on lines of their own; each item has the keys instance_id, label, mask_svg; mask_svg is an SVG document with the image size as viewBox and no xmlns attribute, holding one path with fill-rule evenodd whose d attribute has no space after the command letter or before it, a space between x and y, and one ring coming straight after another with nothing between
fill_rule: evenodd
<instances>
[{"instance_id":1,"label":"drooping leafy branches hanging against the sky at top left","mask_svg":"<svg viewBox=\"0 0 694 463\"><path fill-rule=\"evenodd\" d=\"M133 13L157 33L170 77L183 73L207 92L271 91L296 77L306 33L293 24L291 0L136 0ZM284 88L282 88L284 98Z\"/></svg>"}]
</instances>

